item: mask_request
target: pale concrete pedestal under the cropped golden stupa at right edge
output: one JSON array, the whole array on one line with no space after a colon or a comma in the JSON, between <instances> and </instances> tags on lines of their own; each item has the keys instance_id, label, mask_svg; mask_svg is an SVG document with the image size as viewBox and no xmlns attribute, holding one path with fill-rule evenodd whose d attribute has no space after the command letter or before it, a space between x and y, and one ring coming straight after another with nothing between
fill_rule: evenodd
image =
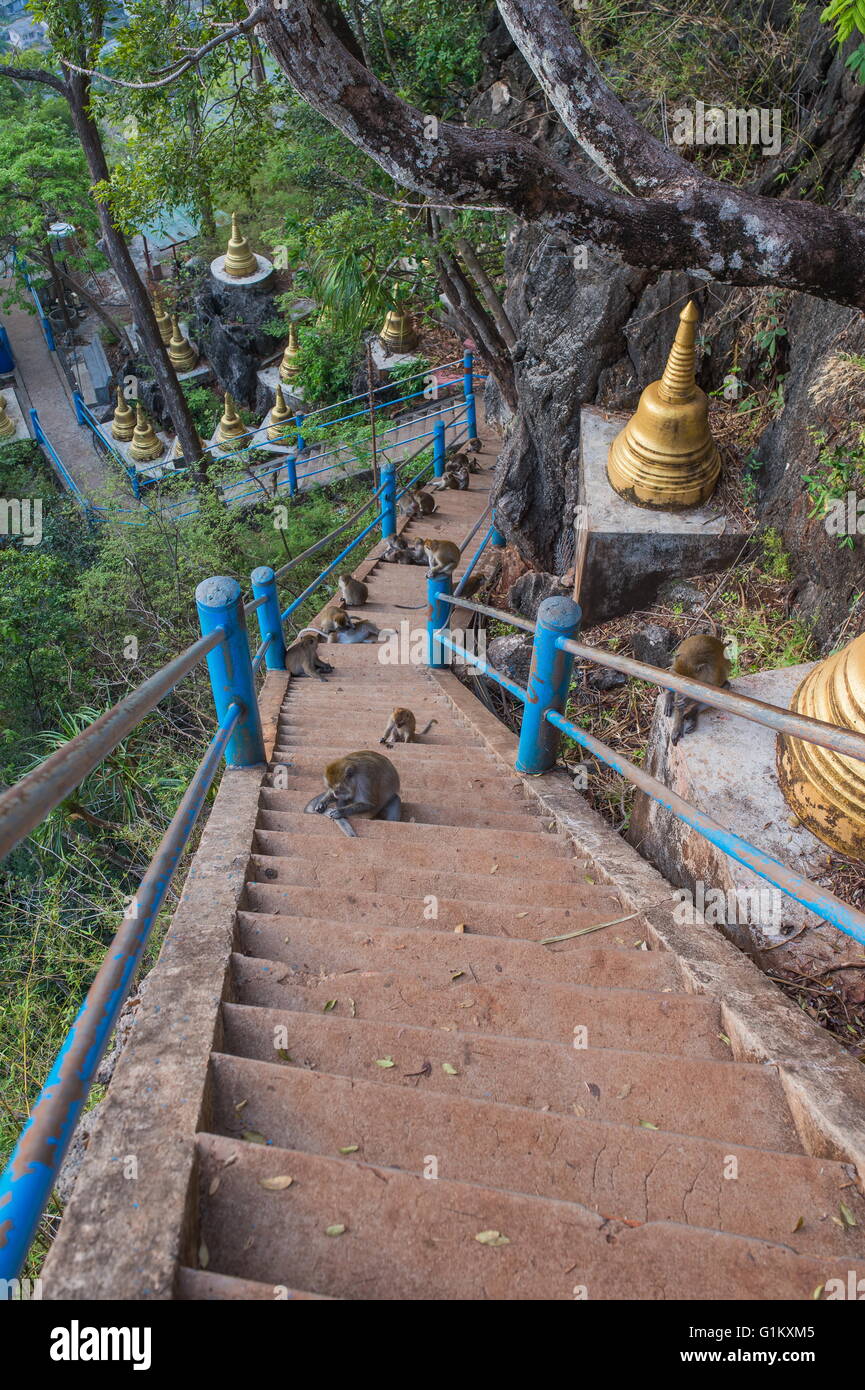
<instances>
[{"instance_id":1,"label":"pale concrete pedestal under the cropped golden stupa at right edge","mask_svg":"<svg viewBox=\"0 0 865 1390\"><path fill-rule=\"evenodd\" d=\"M743 695L789 709L793 692L809 670L811 664L787 666L743 676L731 685ZM829 849L795 819L782 795L775 770L775 738L762 724L704 709L697 730L673 748L661 695L645 766L693 806L780 863L816 880ZM782 941L793 929L819 922L794 898L773 890L765 878L722 853L644 792L637 792L627 840L670 883L695 892L698 906L704 903L704 915L745 951L757 949L761 940ZM725 913L723 924L718 913ZM825 930L836 935L834 929Z\"/></svg>"}]
</instances>

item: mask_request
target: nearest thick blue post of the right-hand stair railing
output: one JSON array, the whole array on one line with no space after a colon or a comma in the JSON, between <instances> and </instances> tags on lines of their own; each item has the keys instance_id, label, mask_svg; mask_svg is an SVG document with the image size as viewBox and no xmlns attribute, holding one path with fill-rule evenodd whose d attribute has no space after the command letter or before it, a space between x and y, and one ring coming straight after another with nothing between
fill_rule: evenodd
<instances>
[{"instance_id":1,"label":"nearest thick blue post of the right-hand stair railing","mask_svg":"<svg viewBox=\"0 0 865 1390\"><path fill-rule=\"evenodd\" d=\"M519 773L537 776L549 771L556 760L559 734L545 716L548 709L559 713L565 709L573 667L573 656L559 651L556 639L574 638L581 616L580 605L565 595L544 599L538 609L516 759Z\"/></svg>"}]
</instances>

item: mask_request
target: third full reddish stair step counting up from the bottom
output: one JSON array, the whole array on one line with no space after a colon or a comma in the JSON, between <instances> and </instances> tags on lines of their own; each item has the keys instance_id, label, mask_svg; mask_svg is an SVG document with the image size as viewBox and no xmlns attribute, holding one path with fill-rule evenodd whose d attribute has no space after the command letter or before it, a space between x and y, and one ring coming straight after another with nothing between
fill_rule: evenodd
<instances>
[{"instance_id":1,"label":"third full reddish stair step counting up from the bottom","mask_svg":"<svg viewBox=\"0 0 865 1390\"><path fill-rule=\"evenodd\" d=\"M748 1062L715 1062L615 1048L579 1049L534 1038L501 1038L456 1029L223 1005L223 1049L273 1062L526 1105L677 1134L801 1154L775 1072ZM281 1033L275 1033L281 1029ZM275 1037L286 1041L275 1044ZM392 1058L392 1068L378 1061ZM444 1066L456 1069L451 1076ZM289 1065L289 1063L284 1063ZM423 1074L430 1068L428 1074Z\"/></svg>"}]
</instances>

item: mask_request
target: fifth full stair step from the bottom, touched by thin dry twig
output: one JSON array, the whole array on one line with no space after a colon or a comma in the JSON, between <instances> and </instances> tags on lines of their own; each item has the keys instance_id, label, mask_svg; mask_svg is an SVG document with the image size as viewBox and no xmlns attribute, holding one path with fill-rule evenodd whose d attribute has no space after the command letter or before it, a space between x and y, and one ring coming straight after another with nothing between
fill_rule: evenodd
<instances>
[{"instance_id":1,"label":"fifth full stair step from the bottom, touched by thin dry twig","mask_svg":"<svg viewBox=\"0 0 865 1390\"><path fill-rule=\"evenodd\" d=\"M679 990L673 956L634 947L634 927L622 923L627 945L598 945L601 933L574 937L555 947L508 937L401 927L356 927L316 917L278 917L238 913L238 949L249 956L282 960L307 974L345 970L399 969L442 984L462 970L466 980L492 986L505 973L517 980L555 980L562 984L601 984L622 990ZM609 930L609 929L608 929ZM604 934L604 940L608 935ZM615 940L615 937L613 937Z\"/></svg>"}]
</instances>

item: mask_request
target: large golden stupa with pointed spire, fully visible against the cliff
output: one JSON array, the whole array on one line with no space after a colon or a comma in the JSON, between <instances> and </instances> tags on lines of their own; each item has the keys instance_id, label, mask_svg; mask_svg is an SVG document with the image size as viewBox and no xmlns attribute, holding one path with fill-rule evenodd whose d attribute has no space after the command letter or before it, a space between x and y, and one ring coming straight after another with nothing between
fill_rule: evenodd
<instances>
[{"instance_id":1,"label":"large golden stupa with pointed spire, fully visible against the cliff","mask_svg":"<svg viewBox=\"0 0 865 1390\"><path fill-rule=\"evenodd\" d=\"M709 432L709 402L694 375L698 320L690 300L679 316L663 377L645 388L609 448L611 486L640 507L697 507L718 484L720 455Z\"/></svg>"}]
</instances>

